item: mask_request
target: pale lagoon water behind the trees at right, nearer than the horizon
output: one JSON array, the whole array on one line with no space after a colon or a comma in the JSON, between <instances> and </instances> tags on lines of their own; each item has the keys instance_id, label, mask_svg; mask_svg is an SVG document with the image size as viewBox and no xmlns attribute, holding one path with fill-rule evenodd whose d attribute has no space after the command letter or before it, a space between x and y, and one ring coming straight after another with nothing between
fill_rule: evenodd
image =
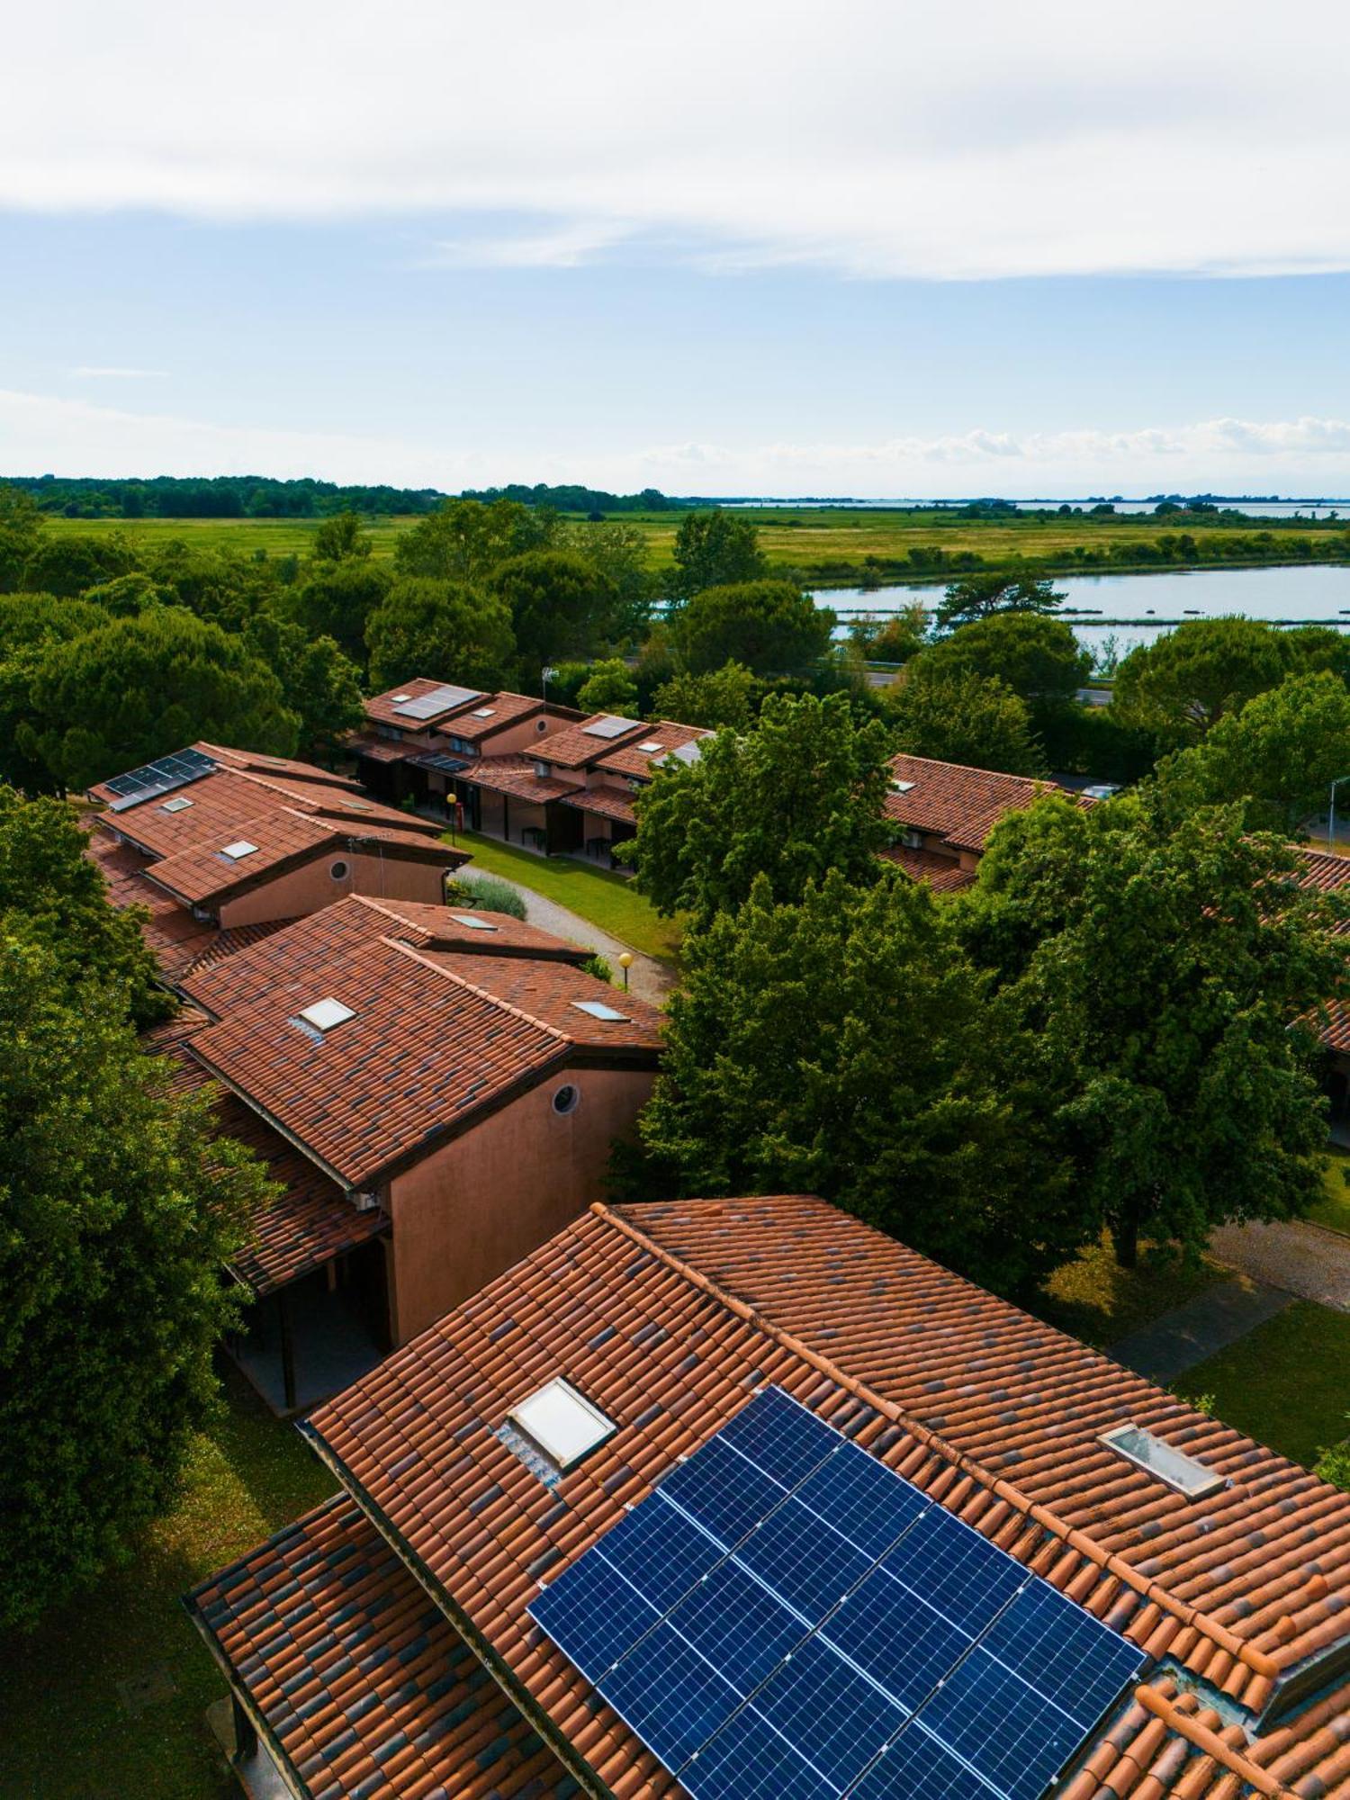
<instances>
[{"instance_id":1,"label":"pale lagoon water behind the trees at right, nearer than the horizon","mask_svg":"<svg viewBox=\"0 0 1350 1800\"><path fill-rule=\"evenodd\" d=\"M1067 594L1064 614L1089 650L1114 637L1121 653L1148 643L1186 617L1217 619L1242 612L1276 625L1316 621L1350 628L1350 565L1291 569L1170 569L1165 574L1069 574L1055 589ZM817 599L841 617L893 614L920 599L936 607L945 583L922 587L821 589ZM1071 614L1078 614L1073 617ZM1109 623L1120 621L1120 623ZM1163 623L1166 621L1166 623Z\"/></svg>"}]
</instances>

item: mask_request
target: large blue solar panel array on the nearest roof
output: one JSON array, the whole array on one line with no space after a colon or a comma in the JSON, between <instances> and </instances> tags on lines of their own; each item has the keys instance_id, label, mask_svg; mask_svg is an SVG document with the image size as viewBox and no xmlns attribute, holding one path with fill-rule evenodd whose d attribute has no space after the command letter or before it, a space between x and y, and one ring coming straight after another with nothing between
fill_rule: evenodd
<instances>
[{"instance_id":1,"label":"large blue solar panel array on the nearest roof","mask_svg":"<svg viewBox=\"0 0 1350 1800\"><path fill-rule=\"evenodd\" d=\"M1147 1663L779 1388L529 1613L693 1800L1039 1800Z\"/></svg>"}]
</instances>

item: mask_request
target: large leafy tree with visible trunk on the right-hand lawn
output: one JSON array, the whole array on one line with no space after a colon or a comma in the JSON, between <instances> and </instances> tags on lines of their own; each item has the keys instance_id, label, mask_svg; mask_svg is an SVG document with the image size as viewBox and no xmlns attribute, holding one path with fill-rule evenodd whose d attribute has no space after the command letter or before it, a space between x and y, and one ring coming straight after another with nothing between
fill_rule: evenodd
<instances>
[{"instance_id":1,"label":"large leafy tree with visible trunk on the right-hand lawn","mask_svg":"<svg viewBox=\"0 0 1350 1800\"><path fill-rule=\"evenodd\" d=\"M1053 1129L1125 1267L1321 1192L1316 1017L1350 990L1341 902L1242 810L1150 794L1010 815L956 916L1019 1010Z\"/></svg>"}]
</instances>

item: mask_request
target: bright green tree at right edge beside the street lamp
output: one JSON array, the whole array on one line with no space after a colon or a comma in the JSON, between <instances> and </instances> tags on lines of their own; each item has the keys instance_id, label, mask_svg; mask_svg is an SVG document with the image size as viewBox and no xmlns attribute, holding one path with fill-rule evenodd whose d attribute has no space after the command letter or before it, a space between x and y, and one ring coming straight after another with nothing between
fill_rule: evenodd
<instances>
[{"instance_id":1,"label":"bright green tree at right edge beside the street lamp","mask_svg":"<svg viewBox=\"0 0 1350 1800\"><path fill-rule=\"evenodd\" d=\"M1202 743L1159 763L1174 808L1244 801L1251 826L1298 833L1350 772L1350 691L1339 675L1291 675L1226 713Z\"/></svg>"}]
</instances>

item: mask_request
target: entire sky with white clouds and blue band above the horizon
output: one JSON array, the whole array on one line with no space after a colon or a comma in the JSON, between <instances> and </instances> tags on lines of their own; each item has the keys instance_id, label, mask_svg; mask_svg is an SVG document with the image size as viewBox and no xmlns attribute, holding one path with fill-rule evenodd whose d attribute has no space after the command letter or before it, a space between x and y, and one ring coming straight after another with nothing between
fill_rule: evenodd
<instances>
[{"instance_id":1,"label":"entire sky with white clouds and blue band above the horizon","mask_svg":"<svg viewBox=\"0 0 1350 1800\"><path fill-rule=\"evenodd\" d=\"M1343 0L52 0L0 472L1350 497Z\"/></svg>"}]
</instances>

